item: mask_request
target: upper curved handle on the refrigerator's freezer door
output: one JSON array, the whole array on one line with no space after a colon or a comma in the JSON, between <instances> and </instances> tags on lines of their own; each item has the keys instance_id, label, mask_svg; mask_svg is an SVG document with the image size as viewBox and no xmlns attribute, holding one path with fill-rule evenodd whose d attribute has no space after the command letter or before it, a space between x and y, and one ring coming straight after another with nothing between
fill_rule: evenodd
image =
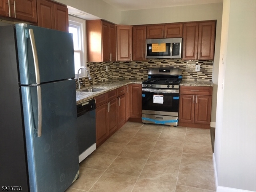
<instances>
[{"instance_id":1,"label":"upper curved handle on the refrigerator's freezer door","mask_svg":"<svg viewBox=\"0 0 256 192\"><path fill-rule=\"evenodd\" d=\"M28 32L30 36L30 42L31 42L33 58L34 58L36 84L38 85L40 84L40 74L39 74L39 64L38 64L37 51L36 51L36 41L35 41L33 29L28 29Z\"/></svg>"}]
</instances>

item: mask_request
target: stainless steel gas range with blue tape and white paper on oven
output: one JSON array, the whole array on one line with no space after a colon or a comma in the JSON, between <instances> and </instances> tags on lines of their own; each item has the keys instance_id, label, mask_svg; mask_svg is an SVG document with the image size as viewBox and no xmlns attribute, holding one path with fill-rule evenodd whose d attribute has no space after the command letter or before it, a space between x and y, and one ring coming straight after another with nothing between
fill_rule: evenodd
<instances>
[{"instance_id":1,"label":"stainless steel gas range with blue tape and white paper on oven","mask_svg":"<svg viewBox=\"0 0 256 192\"><path fill-rule=\"evenodd\" d=\"M149 68L142 82L142 122L178 125L182 69Z\"/></svg>"}]
</instances>

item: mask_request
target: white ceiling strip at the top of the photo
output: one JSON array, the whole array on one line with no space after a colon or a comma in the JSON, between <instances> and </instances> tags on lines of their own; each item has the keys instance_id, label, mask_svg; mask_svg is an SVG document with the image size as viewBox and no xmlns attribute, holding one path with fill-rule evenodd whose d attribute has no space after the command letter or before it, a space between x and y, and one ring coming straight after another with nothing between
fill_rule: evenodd
<instances>
[{"instance_id":1,"label":"white ceiling strip at the top of the photo","mask_svg":"<svg viewBox=\"0 0 256 192\"><path fill-rule=\"evenodd\" d=\"M223 0L103 0L121 11L220 3Z\"/></svg>"}]
</instances>

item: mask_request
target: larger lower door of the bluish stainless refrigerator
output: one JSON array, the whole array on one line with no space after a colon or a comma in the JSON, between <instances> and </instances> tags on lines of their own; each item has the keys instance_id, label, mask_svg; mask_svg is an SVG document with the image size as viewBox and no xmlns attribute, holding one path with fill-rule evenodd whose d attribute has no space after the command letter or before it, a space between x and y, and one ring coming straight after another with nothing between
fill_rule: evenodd
<instances>
[{"instance_id":1,"label":"larger lower door of the bluish stainless refrigerator","mask_svg":"<svg viewBox=\"0 0 256 192\"><path fill-rule=\"evenodd\" d=\"M30 191L65 191L79 171L75 80L40 88L42 135L38 137L37 86L21 86Z\"/></svg>"}]
</instances>

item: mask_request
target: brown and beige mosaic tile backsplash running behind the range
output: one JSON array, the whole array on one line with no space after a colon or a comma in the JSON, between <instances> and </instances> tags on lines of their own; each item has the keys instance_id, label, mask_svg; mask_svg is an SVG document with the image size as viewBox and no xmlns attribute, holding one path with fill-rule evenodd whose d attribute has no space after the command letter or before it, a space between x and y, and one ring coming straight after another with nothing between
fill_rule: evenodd
<instances>
[{"instance_id":1,"label":"brown and beige mosaic tile backsplash running behind the range","mask_svg":"<svg viewBox=\"0 0 256 192\"><path fill-rule=\"evenodd\" d=\"M196 64L200 65L200 71L198 72L195 70ZM82 77L80 79L80 82L82 82L80 84L81 88L108 81L110 79L147 79L148 68L153 67L181 68L183 79L212 81L213 61L152 59L147 61L88 62L87 67L90 68L92 80L88 80L87 77Z\"/></svg>"}]
</instances>

